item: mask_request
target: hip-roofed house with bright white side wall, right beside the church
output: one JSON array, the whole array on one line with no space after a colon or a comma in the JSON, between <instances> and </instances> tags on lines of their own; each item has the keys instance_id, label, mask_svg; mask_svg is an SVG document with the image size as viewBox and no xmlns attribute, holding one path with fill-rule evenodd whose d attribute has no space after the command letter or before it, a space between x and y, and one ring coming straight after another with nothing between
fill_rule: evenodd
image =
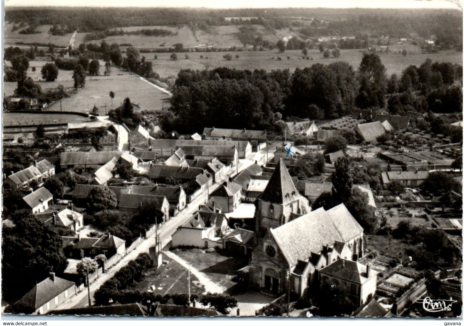
<instances>
[{"instance_id":1,"label":"hip-roofed house with bright white side wall, right beside the church","mask_svg":"<svg viewBox=\"0 0 464 326\"><path fill-rule=\"evenodd\" d=\"M374 296L377 288L377 272L368 263L362 265L347 259L338 259L319 271L321 284L332 284L337 280L340 286L346 288L348 297L361 307L367 303L369 295Z\"/></svg>"}]
</instances>

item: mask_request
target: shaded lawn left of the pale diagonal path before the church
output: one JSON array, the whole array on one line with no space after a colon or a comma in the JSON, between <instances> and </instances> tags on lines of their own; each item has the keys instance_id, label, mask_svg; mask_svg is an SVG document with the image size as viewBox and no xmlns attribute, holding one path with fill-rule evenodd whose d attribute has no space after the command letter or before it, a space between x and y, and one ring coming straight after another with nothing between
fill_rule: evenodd
<instances>
[{"instance_id":1,"label":"shaded lawn left of the pale diagonal path before the church","mask_svg":"<svg viewBox=\"0 0 464 326\"><path fill-rule=\"evenodd\" d=\"M134 281L128 285L128 289L137 289L141 292L145 292L151 289L152 285L156 286L155 293L167 294L167 293L188 293L188 271L178 262L172 261L169 257L167 265L162 265L160 268L149 268L146 269L139 281ZM202 294L204 292L204 286L199 284L198 279L195 275L190 274L190 291L195 294Z\"/></svg>"}]
</instances>

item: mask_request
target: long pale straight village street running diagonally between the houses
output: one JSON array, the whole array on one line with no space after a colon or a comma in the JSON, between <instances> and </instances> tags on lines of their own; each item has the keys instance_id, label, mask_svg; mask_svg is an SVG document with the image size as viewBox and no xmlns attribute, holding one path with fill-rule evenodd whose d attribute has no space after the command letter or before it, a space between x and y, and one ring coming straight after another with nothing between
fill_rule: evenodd
<instances>
[{"instance_id":1,"label":"long pale straight village street running diagonally between the houses","mask_svg":"<svg viewBox=\"0 0 464 326\"><path fill-rule=\"evenodd\" d=\"M266 157L266 151L260 151L258 153L254 153L253 158L258 160L259 157L264 158ZM273 156L273 153L268 153L269 157ZM253 164L255 160L243 159L240 160L238 166L238 172L241 172L246 167ZM263 161L258 160L259 164L264 164ZM210 187L209 192L213 192L216 190L219 185L221 185L225 180L227 180L230 176L233 176L237 173L237 169L231 169L229 173L223 176L220 179L219 183L215 183L212 187ZM171 241L171 236L177 230L177 228L187 222L187 220L192 217L192 214L198 211L198 207L200 205L204 205L207 201L206 194L204 196L200 196L193 200L187 207L181 211L176 217L172 217L167 223L164 223L161 228L159 229L160 239L161 239L161 247L166 246ZM134 250L132 250L128 255L122 257L122 259L116 263L112 268L110 268L106 273L100 275L93 283L90 284L90 296L93 297L93 293L97 288L99 288L105 281L109 280L116 272L125 266L130 260L135 259L138 254L142 252L148 252L150 247L153 247L156 243L155 234L148 237L145 241L138 245ZM69 300L65 301L63 304L58 306L58 309L68 309L71 307L85 307L88 305L88 298L87 298L87 289L84 289L77 295L71 297Z\"/></svg>"}]
</instances>

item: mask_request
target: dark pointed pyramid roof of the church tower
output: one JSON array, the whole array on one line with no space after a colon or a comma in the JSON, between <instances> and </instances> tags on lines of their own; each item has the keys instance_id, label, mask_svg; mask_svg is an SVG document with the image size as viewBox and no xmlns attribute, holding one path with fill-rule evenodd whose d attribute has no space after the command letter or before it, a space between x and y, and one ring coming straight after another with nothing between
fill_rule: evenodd
<instances>
[{"instance_id":1,"label":"dark pointed pyramid roof of the church tower","mask_svg":"<svg viewBox=\"0 0 464 326\"><path fill-rule=\"evenodd\" d=\"M261 195L261 199L275 204L288 204L300 197L287 167L283 160L280 159L269 183Z\"/></svg>"}]
</instances>

